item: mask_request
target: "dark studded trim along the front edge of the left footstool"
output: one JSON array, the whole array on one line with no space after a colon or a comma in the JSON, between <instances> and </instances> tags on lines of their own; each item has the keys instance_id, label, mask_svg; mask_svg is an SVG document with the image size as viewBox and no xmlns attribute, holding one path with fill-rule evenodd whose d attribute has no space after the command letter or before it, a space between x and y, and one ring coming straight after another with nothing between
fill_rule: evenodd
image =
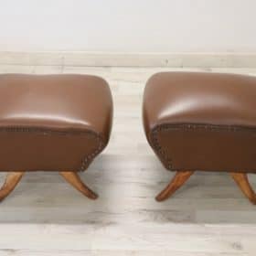
<instances>
[{"instance_id":1,"label":"dark studded trim along the front edge of the left footstool","mask_svg":"<svg viewBox=\"0 0 256 256\"><path fill-rule=\"evenodd\" d=\"M91 130L87 131L80 131L80 130L70 130L70 131L58 131L58 130L51 130L48 128L39 128L39 127L1 127L0 128L0 133L1 132L7 132L7 133L41 133L44 135L54 135L54 134L59 134L59 135L85 135L85 134L90 134L93 135L96 140L97 140L97 148L89 155L85 155L81 161L81 165L79 168L79 171L85 171L88 167L88 165L91 163L93 158L98 155L102 148L103 148L103 143L102 143L102 138L101 135L98 133L95 133Z\"/></svg>"}]
</instances>

